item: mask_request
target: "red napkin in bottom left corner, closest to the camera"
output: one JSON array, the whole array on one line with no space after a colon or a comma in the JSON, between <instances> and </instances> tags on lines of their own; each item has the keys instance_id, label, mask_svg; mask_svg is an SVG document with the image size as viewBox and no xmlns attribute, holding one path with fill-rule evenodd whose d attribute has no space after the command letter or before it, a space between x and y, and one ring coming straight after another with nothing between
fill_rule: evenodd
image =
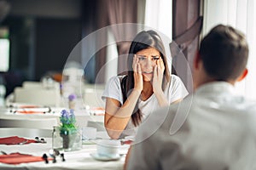
<instances>
[{"instance_id":1,"label":"red napkin in bottom left corner, closest to the camera","mask_svg":"<svg viewBox=\"0 0 256 170\"><path fill-rule=\"evenodd\" d=\"M19 152L0 156L0 162L8 164L20 164L34 161L44 161L44 159L42 158L42 156L20 154Z\"/></svg>"}]
</instances>

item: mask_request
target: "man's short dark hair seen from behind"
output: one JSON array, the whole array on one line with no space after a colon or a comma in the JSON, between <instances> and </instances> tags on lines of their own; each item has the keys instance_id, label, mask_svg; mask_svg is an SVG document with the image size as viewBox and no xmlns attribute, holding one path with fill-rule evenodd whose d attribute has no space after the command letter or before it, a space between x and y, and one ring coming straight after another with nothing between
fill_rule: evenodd
<instances>
[{"instance_id":1,"label":"man's short dark hair seen from behind","mask_svg":"<svg viewBox=\"0 0 256 170\"><path fill-rule=\"evenodd\" d=\"M207 74L219 81L236 80L247 65L248 44L231 26L212 28L201 41L199 54Z\"/></svg>"}]
</instances>

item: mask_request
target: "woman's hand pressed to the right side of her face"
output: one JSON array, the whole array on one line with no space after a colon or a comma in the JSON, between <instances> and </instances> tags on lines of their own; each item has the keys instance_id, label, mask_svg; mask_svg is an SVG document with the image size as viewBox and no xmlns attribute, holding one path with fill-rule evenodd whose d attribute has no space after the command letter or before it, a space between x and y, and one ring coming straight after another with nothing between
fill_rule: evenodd
<instances>
[{"instance_id":1,"label":"woman's hand pressed to the right side of her face","mask_svg":"<svg viewBox=\"0 0 256 170\"><path fill-rule=\"evenodd\" d=\"M157 91L162 90L162 82L163 75L165 71L165 65L162 58L156 61L156 65L154 66L154 77L153 77L153 91L157 93Z\"/></svg>"}]
</instances>

